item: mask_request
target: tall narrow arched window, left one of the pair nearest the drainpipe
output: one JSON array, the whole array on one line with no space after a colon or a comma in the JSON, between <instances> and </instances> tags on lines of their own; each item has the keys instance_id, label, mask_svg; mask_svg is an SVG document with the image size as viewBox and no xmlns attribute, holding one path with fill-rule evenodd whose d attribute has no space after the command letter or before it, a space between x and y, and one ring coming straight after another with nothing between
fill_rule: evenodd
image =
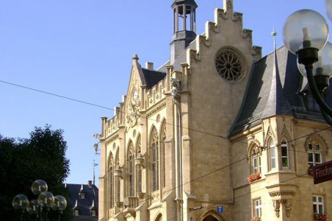
<instances>
[{"instance_id":1,"label":"tall narrow arched window, left one of the pair nearest the drainpipe","mask_svg":"<svg viewBox=\"0 0 332 221\"><path fill-rule=\"evenodd\" d=\"M156 128L153 129L150 139L150 157L151 157L151 178L152 191L159 189L159 149L158 149L158 133Z\"/></svg>"}]
</instances>

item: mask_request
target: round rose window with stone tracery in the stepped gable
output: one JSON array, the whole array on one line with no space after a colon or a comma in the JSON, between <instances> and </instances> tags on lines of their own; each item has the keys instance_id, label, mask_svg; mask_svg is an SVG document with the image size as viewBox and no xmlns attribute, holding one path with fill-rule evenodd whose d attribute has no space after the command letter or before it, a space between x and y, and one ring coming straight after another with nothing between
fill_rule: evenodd
<instances>
[{"instance_id":1,"label":"round rose window with stone tracery in the stepped gable","mask_svg":"<svg viewBox=\"0 0 332 221\"><path fill-rule=\"evenodd\" d=\"M215 59L216 71L227 81L238 81L243 76L243 61L228 48L219 50Z\"/></svg>"}]
</instances>

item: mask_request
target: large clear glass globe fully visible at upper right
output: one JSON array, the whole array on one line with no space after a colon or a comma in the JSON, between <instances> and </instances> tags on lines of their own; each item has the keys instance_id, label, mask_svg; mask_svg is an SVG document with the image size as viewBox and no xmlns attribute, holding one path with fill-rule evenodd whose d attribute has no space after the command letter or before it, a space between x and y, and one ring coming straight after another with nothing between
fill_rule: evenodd
<instances>
[{"instance_id":1,"label":"large clear glass globe fully visible at upper right","mask_svg":"<svg viewBox=\"0 0 332 221\"><path fill-rule=\"evenodd\" d=\"M314 10L298 10L284 24L284 44L293 54L303 48L320 50L328 37L329 26L326 20Z\"/></svg>"}]
</instances>

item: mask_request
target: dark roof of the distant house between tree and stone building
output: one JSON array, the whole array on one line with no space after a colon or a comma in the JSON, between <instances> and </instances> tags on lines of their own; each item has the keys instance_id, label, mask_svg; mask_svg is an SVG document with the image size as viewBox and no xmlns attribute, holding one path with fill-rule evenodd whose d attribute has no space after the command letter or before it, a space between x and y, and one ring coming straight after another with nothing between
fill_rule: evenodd
<instances>
[{"instance_id":1,"label":"dark roof of the distant house between tree and stone building","mask_svg":"<svg viewBox=\"0 0 332 221\"><path fill-rule=\"evenodd\" d=\"M81 187L83 186L83 191L85 193L85 198L80 198L80 191ZM93 204L95 209L98 212L98 187L94 184L91 185L89 188L88 184L66 184L66 188L69 192L69 202L68 204L71 208L75 207L76 200L77 200L77 209L79 210L80 215L75 215L74 220L91 220L95 221L98 220L98 216L91 216L90 207ZM98 214L98 213L97 213Z\"/></svg>"}]
</instances>

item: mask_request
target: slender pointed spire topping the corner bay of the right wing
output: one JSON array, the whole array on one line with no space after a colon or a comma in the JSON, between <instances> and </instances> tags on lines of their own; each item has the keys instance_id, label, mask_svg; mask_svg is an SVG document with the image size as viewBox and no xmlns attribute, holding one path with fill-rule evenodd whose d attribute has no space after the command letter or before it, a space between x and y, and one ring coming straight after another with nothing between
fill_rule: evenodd
<instances>
[{"instance_id":1,"label":"slender pointed spire topping the corner bay of the right wing","mask_svg":"<svg viewBox=\"0 0 332 221\"><path fill-rule=\"evenodd\" d=\"M271 33L274 41L274 52L273 52L273 73L271 77L270 94L268 95L268 101L261 118L273 117L275 115L292 115L291 106L284 95L282 88L282 81L280 80L278 59L277 59L277 45L275 37L277 32L273 29Z\"/></svg>"}]
</instances>

